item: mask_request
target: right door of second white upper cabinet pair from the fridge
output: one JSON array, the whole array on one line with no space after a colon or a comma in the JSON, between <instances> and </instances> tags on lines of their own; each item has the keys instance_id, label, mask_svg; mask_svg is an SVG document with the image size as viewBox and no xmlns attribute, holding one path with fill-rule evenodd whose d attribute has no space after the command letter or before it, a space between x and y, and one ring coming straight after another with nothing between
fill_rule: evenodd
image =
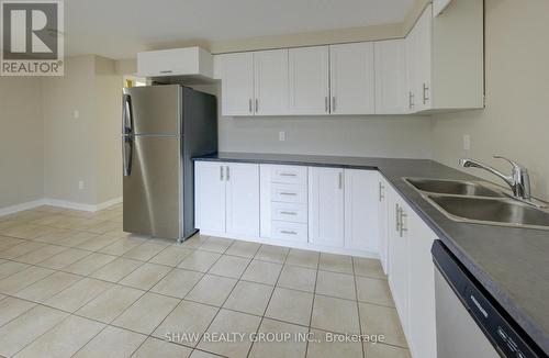
<instances>
[{"instance_id":1,"label":"right door of second white upper cabinet pair from the fridge","mask_svg":"<svg viewBox=\"0 0 549 358\"><path fill-rule=\"evenodd\" d=\"M329 46L333 114L373 114L373 43Z\"/></svg>"}]
</instances>

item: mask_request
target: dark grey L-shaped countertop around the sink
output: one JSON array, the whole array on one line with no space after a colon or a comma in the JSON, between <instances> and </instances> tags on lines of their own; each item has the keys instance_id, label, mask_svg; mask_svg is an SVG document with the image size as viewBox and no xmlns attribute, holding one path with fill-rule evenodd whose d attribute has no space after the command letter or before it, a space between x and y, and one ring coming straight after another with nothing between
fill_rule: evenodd
<instances>
[{"instance_id":1,"label":"dark grey L-shaped countertop around the sink","mask_svg":"<svg viewBox=\"0 0 549 358\"><path fill-rule=\"evenodd\" d=\"M428 159L216 153L194 160L377 169L549 355L549 232L449 220L402 177L479 179Z\"/></svg>"}]
</instances>

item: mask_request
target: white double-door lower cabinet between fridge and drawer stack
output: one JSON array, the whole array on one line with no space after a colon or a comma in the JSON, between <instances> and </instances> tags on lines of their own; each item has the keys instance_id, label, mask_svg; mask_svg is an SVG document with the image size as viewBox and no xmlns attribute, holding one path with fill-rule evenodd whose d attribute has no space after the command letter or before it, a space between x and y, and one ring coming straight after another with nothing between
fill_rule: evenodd
<instances>
[{"instance_id":1,"label":"white double-door lower cabinet between fridge and drawer stack","mask_svg":"<svg viewBox=\"0 0 549 358\"><path fill-rule=\"evenodd\" d=\"M197 161L195 226L259 236L259 165Z\"/></svg>"}]
</instances>

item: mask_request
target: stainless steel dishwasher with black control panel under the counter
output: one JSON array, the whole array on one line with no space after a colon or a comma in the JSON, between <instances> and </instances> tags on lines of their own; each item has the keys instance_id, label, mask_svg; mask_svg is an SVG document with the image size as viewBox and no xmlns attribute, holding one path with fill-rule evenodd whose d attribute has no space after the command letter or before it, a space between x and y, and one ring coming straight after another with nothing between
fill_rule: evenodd
<instances>
[{"instance_id":1,"label":"stainless steel dishwasher with black control panel under the counter","mask_svg":"<svg viewBox=\"0 0 549 358\"><path fill-rule=\"evenodd\" d=\"M432 253L438 357L547 357L440 240Z\"/></svg>"}]
</instances>

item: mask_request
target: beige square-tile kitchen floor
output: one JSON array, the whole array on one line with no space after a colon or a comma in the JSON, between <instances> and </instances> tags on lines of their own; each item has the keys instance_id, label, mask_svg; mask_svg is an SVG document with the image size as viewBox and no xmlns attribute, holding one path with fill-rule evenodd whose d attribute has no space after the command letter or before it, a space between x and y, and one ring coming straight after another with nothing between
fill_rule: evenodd
<instances>
[{"instance_id":1,"label":"beige square-tile kitchen floor","mask_svg":"<svg viewBox=\"0 0 549 358\"><path fill-rule=\"evenodd\" d=\"M410 354L378 260L200 235L181 245L135 237L116 205L0 217L0 356Z\"/></svg>"}]
</instances>

